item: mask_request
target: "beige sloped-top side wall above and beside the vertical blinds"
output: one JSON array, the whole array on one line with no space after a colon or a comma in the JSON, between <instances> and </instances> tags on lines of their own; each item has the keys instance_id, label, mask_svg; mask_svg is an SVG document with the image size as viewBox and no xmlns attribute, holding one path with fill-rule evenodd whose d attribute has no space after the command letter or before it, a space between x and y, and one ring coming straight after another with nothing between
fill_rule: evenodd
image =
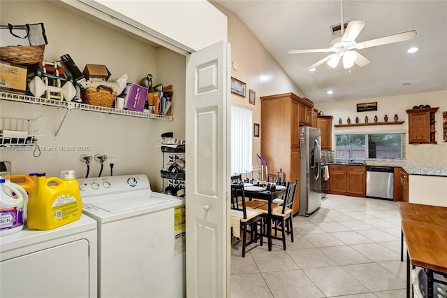
<instances>
[{"instance_id":1,"label":"beige sloped-top side wall above and beside the vertical blinds","mask_svg":"<svg viewBox=\"0 0 447 298\"><path fill-rule=\"evenodd\" d=\"M261 123L261 101L259 97L293 92L304 96L300 88L291 81L273 57L251 32L235 17L214 3L228 17L228 43L231 44L231 62L237 69L231 68L231 76L247 84L247 96L231 94L231 103L247 106L253 110L253 122ZM249 90L256 92L256 104L249 104ZM263 127L261 126L261 131ZM261 139L253 138L253 165L258 166L256 153L261 153Z\"/></svg>"}]
</instances>

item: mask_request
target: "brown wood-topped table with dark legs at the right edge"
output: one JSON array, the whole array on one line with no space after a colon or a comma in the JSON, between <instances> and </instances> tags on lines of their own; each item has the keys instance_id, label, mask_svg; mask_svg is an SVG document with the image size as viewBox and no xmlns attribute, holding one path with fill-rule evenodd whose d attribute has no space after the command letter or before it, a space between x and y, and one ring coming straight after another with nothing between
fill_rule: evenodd
<instances>
[{"instance_id":1,"label":"brown wood-topped table with dark legs at the right edge","mask_svg":"<svg viewBox=\"0 0 447 298\"><path fill-rule=\"evenodd\" d=\"M433 297L434 274L447 279L447 207L402 201L397 205L402 218L401 260L404 238L407 247L406 297L410 297L411 265L426 270L427 297Z\"/></svg>"}]
</instances>

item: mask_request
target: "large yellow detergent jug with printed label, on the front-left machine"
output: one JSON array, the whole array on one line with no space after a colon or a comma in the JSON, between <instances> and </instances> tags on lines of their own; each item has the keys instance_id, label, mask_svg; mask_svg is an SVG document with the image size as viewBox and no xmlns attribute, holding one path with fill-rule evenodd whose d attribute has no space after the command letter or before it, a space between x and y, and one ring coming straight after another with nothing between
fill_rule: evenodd
<instances>
[{"instance_id":1,"label":"large yellow detergent jug with printed label, on the front-left machine","mask_svg":"<svg viewBox=\"0 0 447 298\"><path fill-rule=\"evenodd\" d=\"M81 217L78 181L47 178L45 173L36 176L36 189L28 201L29 229L54 229Z\"/></svg>"}]
</instances>

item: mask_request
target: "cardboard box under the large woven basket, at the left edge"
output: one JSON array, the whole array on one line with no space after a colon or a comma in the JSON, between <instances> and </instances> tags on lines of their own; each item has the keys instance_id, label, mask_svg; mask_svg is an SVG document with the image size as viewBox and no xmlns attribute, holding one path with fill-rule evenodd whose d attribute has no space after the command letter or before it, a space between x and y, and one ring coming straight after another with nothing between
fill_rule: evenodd
<instances>
[{"instance_id":1,"label":"cardboard box under the large woven basket, at the left edge","mask_svg":"<svg viewBox=\"0 0 447 298\"><path fill-rule=\"evenodd\" d=\"M0 89L24 94L27 90L27 67L1 61Z\"/></svg>"}]
</instances>

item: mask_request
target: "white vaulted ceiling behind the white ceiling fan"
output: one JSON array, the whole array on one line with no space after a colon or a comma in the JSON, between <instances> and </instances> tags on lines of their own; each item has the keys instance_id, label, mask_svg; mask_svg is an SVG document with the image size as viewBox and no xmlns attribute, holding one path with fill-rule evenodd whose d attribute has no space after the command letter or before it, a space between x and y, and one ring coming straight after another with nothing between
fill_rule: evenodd
<instances>
[{"instance_id":1,"label":"white vaulted ceiling behind the white ceiling fan","mask_svg":"<svg viewBox=\"0 0 447 298\"><path fill-rule=\"evenodd\" d=\"M288 54L289 50L329 48L336 37L330 26L341 21L339 0L212 3L235 13L314 102L447 90L446 0L344 0L344 22L367 22L358 42L410 30L418 34L410 41L358 50L372 63L354 65L351 73L341 62L335 69L322 64L314 72L305 71L331 53ZM419 51L408 54L412 46ZM328 90L334 93L326 94Z\"/></svg>"}]
</instances>

